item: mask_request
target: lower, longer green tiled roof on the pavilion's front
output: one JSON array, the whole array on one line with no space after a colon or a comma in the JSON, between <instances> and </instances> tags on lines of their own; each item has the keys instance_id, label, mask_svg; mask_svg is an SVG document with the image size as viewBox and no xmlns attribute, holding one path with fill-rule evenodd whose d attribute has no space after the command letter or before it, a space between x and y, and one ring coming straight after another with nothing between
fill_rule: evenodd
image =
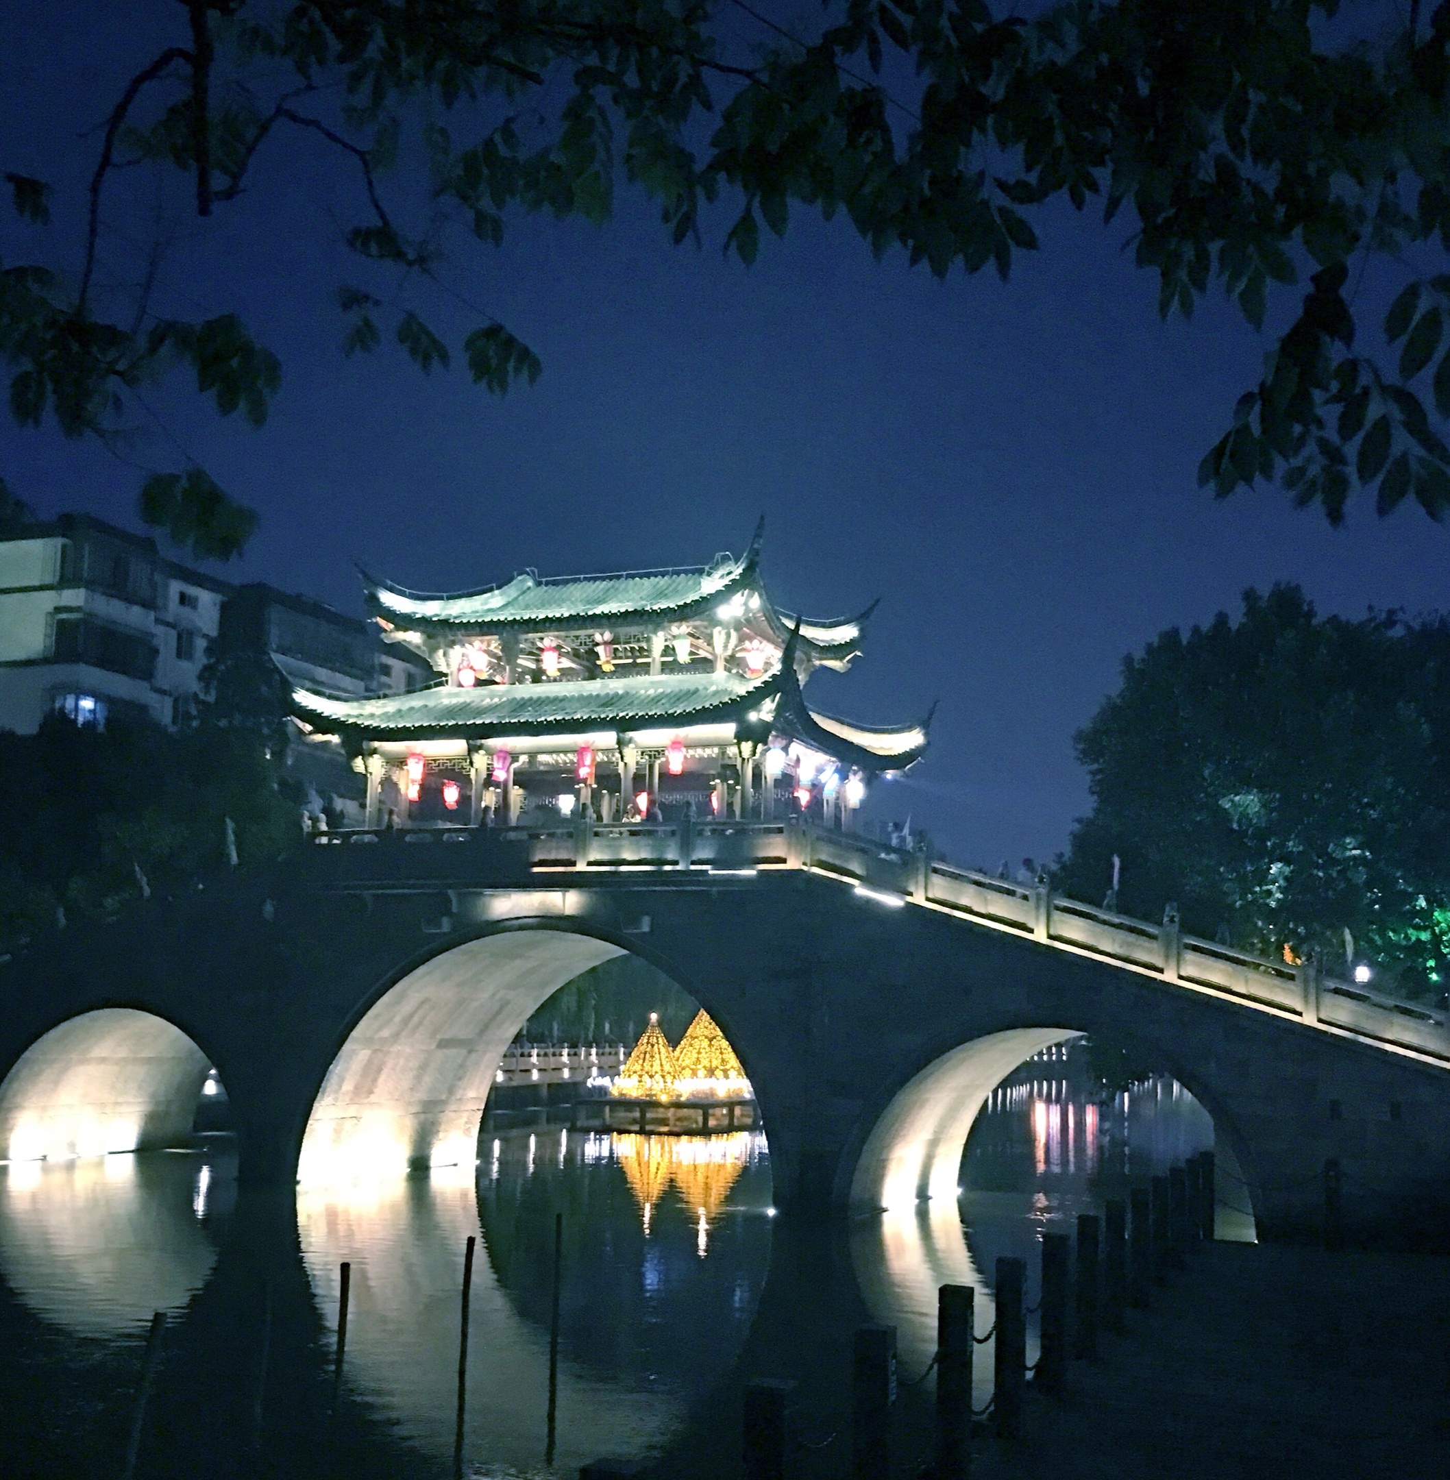
<instances>
[{"instance_id":1,"label":"lower, longer green tiled roof on the pavilion's front","mask_svg":"<svg viewBox=\"0 0 1450 1480\"><path fill-rule=\"evenodd\" d=\"M515 736L571 730L645 730L685 719L726 719L765 699L778 673L672 673L667 678L595 678L553 684L420 688L377 699L331 699L293 690L296 713L314 725L385 736L413 731Z\"/></svg>"}]
</instances>

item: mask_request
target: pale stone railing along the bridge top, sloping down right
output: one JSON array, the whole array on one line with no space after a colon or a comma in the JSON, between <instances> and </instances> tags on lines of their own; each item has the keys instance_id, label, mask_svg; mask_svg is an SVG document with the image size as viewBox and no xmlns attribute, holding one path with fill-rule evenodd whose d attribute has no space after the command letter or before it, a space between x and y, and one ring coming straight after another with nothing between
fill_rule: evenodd
<instances>
[{"instance_id":1,"label":"pale stone railing along the bridge top, sloping down right","mask_svg":"<svg viewBox=\"0 0 1450 1480\"><path fill-rule=\"evenodd\" d=\"M321 833L340 878L374 870L364 850L385 848L389 873L456 881L459 872L487 879L502 872L632 873L704 870L750 875L803 869L851 884L886 903L917 904L1008 931L1046 946L1111 961L1133 971L1292 1014L1304 1023L1351 1033L1450 1063L1450 1014L1370 992L1318 974L1312 962L1289 965L1216 941L1184 935L1173 922L1098 909L1045 885L999 879L940 861L922 848L898 848L861 833L781 821L707 820L565 826L413 827ZM465 852L463 850L469 850ZM423 850L428 850L425 852ZM323 855L314 852L323 863ZM426 858L426 864L425 864ZM463 860L469 864L457 867Z\"/></svg>"}]
</instances>

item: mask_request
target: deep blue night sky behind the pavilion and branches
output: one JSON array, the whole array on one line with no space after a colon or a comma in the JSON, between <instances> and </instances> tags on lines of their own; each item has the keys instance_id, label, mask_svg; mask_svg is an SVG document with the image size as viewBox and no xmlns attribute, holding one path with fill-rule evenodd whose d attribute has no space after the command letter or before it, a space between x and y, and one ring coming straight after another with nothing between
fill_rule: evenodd
<instances>
[{"instance_id":1,"label":"deep blue night sky behind the pavilion and branches","mask_svg":"<svg viewBox=\"0 0 1450 1480\"><path fill-rule=\"evenodd\" d=\"M136 12L146 34L121 24ZM47 232L6 212L6 263L62 249L78 263L98 148L80 135L183 19L173 0L0 3L0 167L58 186ZM108 218L132 240L152 212L139 194L145 210ZM460 355L431 379L388 342L340 357L331 290L379 281L337 246L358 197L326 144L293 136L212 223L163 213L155 308L237 309L284 364L260 432L181 385L138 420L135 462L191 454L260 509L246 558L218 573L360 613L352 561L425 591L698 564L738 554L763 514L781 605L837 617L882 598L866 656L820 673L811 699L867 722L940 700L928 758L873 805L962 863L1067 844L1088 801L1073 731L1163 628L1274 580L1355 616L1446 604L1450 531L1413 508L1380 522L1355 506L1335 531L1278 491L1215 503L1197 488L1264 343L1218 300L1161 324L1156 278L1092 216L1034 218L1045 250L1008 286L877 263L849 226L805 213L749 271L721 256L724 212L703 250L675 249L627 189L602 229L512 219L502 250L460 238L447 268L544 361L537 386L496 400ZM111 271L126 252L112 237ZM438 292L414 302L456 351L479 323ZM0 475L38 512L138 527L133 468L53 425L0 428Z\"/></svg>"}]
</instances>

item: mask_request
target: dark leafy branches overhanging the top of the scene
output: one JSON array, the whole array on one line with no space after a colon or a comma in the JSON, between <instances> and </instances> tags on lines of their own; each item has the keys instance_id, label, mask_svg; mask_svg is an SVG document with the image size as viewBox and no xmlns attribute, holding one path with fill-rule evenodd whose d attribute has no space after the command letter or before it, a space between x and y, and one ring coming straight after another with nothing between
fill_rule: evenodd
<instances>
[{"instance_id":1,"label":"dark leafy branches overhanging the top of the scene","mask_svg":"<svg viewBox=\"0 0 1450 1480\"><path fill-rule=\"evenodd\" d=\"M181 0L173 44L114 99L92 151L78 241L52 238L52 182L10 170L0 355L22 425L114 438L130 398L194 374L222 416L260 426L277 357L225 303L151 311L157 255L112 241L149 166L212 218L252 197L254 161L331 151L357 178L339 283L343 354L391 337L425 371L462 349L503 394L540 361L527 326L478 309L462 346L423 318L462 231L502 241L513 212L604 219L620 182L675 243L722 200L743 262L793 204L843 212L871 250L938 277L1033 250L1065 197L1119 223L1159 311L1218 284L1275 324L1200 482L1278 480L1339 522L1355 488L1380 514L1450 509L1450 0L1407 15L1361 0L1065 0L1033 16L985 0L826 0L808 31L746 0ZM784 12L783 12L784 13ZM3 161L0 161L3 163ZM419 178L426 189L410 192ZM710 221L715 218L710 216ZM102 287L98 249L135 263ZM1403 287L1382 343L1357 348L1370 263ZM124 277L124 274L121 274ZM1306 289L1306 290L1305 290ZM1286 324L1281 332L1277 326ZM516 332L518 330L518 332ZM254 514L198 466L157 469L144 517L201 556Z\"/></svg>"}]
</instances>

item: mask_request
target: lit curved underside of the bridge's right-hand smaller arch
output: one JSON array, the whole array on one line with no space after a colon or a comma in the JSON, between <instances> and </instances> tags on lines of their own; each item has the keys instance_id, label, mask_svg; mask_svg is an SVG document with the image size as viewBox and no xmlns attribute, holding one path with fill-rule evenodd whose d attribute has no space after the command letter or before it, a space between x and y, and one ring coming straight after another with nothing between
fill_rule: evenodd
<instances>
[{"instance_id":1,"label":"lit curved underside of the bridge's right-hand smaller arch","mask_svg":"<svg viewBox=\"0 0 1450 1480\"><path fill-rule=\"evenodd\" d=\"M987 1095L1076 1029L1018 1027L963 1043L907 1080L877 1117L851 1177L851 1206L897 1212L957 1196L966 1137Z\"/></svg>"}]
</instances>

